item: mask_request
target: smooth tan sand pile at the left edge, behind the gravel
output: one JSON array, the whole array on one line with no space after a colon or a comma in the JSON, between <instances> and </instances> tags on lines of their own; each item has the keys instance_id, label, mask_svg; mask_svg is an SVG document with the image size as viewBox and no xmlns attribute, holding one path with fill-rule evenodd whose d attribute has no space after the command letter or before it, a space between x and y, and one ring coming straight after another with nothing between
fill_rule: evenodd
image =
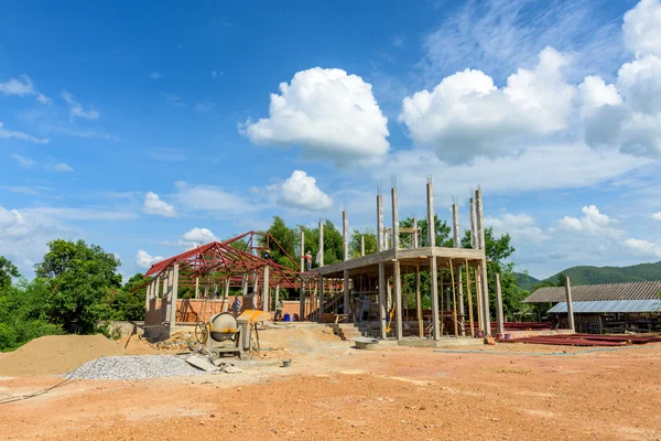
<instances>
[{"instance_id":1,"label":"smooth tan sand pile at the left edge, behind the gravel","mask_svg":"<svg viewBox=\"0 0 661 441\"><path fill-rule=\"evenodd\" d=\"M104 335L47 335L24 344L0 359L0 376L61 375L90 359L119 355Z\"/></svg>"}]
</instances>

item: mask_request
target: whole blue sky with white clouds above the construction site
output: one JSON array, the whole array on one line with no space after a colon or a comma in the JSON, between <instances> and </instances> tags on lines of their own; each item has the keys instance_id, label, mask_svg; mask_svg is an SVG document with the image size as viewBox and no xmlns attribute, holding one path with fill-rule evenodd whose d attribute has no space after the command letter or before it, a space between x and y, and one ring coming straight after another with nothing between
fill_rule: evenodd
<instances>
[{"instance_id":1,"label":"whole blue sky with white clouds above the construction site","mask_svg":"<svg viewBox=\"0 0 661 441\"><path fill-rule=\"evenodd\" d=\"M121 272L199 240L375 224L480 185L519 270L661 260L661 4L58 2L0 15L0 255ZM387 211L388 215L389 211Z\"/></svg>"}]
</instances>

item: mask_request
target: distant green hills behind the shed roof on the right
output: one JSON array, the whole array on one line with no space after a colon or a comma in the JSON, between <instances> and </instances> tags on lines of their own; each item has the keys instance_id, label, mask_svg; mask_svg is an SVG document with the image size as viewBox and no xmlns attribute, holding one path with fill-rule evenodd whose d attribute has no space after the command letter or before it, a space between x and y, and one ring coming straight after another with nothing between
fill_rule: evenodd
<instances>
[{"instance_id":1,"label":"distant green hills behind the shed roof on the right","mask_svg":"<svg viewBox=\"0 0 661 441\"><path fill-rule=\"evenodd\" d=\"M534 277L517 273L517 280L521 289L530 291L544 281L555 283L561 273L568 276L572 280L572 284L624 283L661 280L661 261L657 263L633 265L631 267L572 267L564 271L560 271L545 280L538 280Z\"/></svg>"}]
</instances>

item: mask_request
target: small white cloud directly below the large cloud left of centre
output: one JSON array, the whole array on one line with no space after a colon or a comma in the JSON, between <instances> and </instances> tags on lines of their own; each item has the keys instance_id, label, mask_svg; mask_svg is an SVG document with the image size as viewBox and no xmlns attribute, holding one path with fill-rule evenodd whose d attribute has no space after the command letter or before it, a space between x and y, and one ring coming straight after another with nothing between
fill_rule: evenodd
<instances>
[{"instance_id":1,"label":"small white cloud directly below the large cloud left of centre","mask_svg":"<svg viewBox=\"0 0 661 441\"><path fill-rule=\"evenodd\" d=\"M303 170L295 170L280 189L280 204L321 212L333 206L333 200L316 185L316 179Z\"/></svg>"}]
</instances>

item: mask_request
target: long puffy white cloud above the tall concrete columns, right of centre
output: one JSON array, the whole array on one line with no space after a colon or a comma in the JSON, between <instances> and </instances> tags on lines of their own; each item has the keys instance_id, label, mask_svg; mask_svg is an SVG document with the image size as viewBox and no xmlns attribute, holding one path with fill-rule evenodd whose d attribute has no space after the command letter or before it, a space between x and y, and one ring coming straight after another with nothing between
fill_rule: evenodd
<instances>
[{"instance_id":1,"label":"long puffy white cloud above the tall concrete columns, right of centre","mask_svg":"<svg viewBox=\"0 0 661 441\"><path fill-rule=\"evenodd\" d=\"M534 71L520 68L499 89L480 71L444 78L405 97L399 121L416 144L451 163L513 153L512 142L567 128L575 87L561 73L568 58L546 47Z\"/></svg>"}]
</instances>

